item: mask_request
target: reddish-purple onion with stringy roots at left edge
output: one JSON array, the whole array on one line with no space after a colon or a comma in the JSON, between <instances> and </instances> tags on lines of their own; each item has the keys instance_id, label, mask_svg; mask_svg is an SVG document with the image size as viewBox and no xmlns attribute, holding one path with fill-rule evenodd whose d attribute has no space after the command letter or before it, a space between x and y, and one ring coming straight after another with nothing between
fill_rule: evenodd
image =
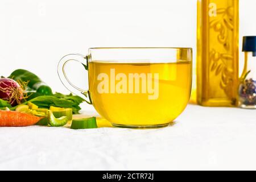
<instances>
[{"instance_id":1,"label":"reddish-purple onion with stringy roots at left edge","mask_svg":"<svg viewBox=\"0 0 256 182\"><path fill-rule=\"evenodd\" d=\"M11 106L16 106L26 98L24 95L26 95L24 94L24 84L18 84L11 78L0 78L0 98L2 100L8 101Z\"/></svg>"}]
</instances>

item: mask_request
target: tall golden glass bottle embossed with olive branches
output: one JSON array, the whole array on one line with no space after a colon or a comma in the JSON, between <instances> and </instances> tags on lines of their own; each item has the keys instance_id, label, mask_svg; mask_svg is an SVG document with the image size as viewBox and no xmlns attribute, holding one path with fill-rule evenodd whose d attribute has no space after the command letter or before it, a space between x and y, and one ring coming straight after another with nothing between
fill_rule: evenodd
<instances>
[{"instance_id":1,"label":"tall golden glass bottle embossed with olive branches","mask_svg":"<svg viewBox=\"0 0 256 182\"><path fill-rule=\"evenodd\" d=\"M197 103L200 105L236 105L238 4L238 0L197 2Z\"/></svg>"}]
</instances>

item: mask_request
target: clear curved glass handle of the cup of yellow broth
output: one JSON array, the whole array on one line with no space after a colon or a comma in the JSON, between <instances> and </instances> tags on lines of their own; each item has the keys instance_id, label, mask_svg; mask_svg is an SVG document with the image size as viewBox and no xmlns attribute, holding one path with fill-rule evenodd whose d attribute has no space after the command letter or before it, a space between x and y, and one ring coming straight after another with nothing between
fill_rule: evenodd
<instances>
[{"instance_id":1,"label":"clear curved glass handle of the cup of yellow broth","mask_svg":"<svg viewBox=\"0 0 256 182\"><path fill-rule=\"evenodd\" d=\"M87 56L80 55L78 53L66 55L60 59L60 62L58 64L57 72L60 77L60 81L70 92L76 94L77 96L84 98L84 100L88 104L92 104L92 101L90 100L89 90L84 90L84 89L78 88L76 85L73 85L71 81L69 81L67 74L65 73L65 66L67 66L67 63L69 63L70 61L77 61L77 62L81 63L84 66L84 68L86 69L86 71L88 71Z\"/></svg>"}]
</instances>

